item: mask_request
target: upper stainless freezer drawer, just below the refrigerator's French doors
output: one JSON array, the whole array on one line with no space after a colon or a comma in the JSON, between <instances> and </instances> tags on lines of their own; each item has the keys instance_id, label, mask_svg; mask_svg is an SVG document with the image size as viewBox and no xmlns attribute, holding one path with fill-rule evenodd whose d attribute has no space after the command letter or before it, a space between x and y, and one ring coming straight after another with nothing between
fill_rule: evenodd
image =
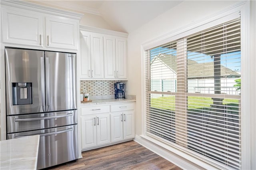
<instances>
[{"instance_id":1,"label":"upper stainless freezer drawer, just below the refrigerator's French doors","mask_svg":"<svg viewBox=\"0 0 256 170\"><path fill-rule=\"evenodd\" d=\"M77 110L8 116L7 133L77 124Z\"/></svg>"}]
</instances>

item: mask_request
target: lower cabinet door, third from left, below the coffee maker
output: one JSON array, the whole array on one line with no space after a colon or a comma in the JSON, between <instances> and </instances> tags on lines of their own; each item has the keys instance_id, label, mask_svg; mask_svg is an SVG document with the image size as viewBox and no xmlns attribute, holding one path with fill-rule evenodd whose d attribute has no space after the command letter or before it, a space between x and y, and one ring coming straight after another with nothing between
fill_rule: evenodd
<instances>
[{"instance_id":1,"label":"lower cabinet door, third from left, below the coffee maker","mask_svg":"<svg viewBox=\"0 0 256 170\"><path fill-rule=\"evenodd\" d=\"M111 113L111 142L116 142L123 139L123 114Z\"/></svg>"}]
</instances>

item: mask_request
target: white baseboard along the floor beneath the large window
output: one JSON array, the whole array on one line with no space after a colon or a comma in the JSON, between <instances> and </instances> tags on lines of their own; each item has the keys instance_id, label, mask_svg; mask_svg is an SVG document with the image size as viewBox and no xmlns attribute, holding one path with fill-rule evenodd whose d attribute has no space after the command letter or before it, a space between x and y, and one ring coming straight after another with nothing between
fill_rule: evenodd
<instances>
[{"instance_id":1,"label":"white baseboard along the floor beneath the large window","mask_svg":"<svg viewBox=\"0 0 256 170\"><path fill-rule=\"evenodd\" d=\"M201 166L194 164L190 162L189 160L184 159L183 157L179 156L178 154L175 154L174 152L168 151L157 144L154 144L153 142L150 142L149 140L146 140L142 136L136 135L135 142L138 144L144 146L145 148L151 150L152 152L158 154L162 158L172 162L176 166L184 169L184 170L199 170L204 169Z\"/></svg>"}]
</instances>

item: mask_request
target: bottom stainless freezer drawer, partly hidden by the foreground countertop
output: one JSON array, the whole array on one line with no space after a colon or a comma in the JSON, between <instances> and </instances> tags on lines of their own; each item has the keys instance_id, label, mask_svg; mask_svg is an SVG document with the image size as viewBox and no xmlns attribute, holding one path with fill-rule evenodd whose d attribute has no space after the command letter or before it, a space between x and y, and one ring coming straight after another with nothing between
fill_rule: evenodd
<instances>
[{"instance_id":1,"label":"bottom stainless freezer drawer, partly hidden by the foreground countertop","mask_svg":"<svg viewBox=\"0 0 256 170\"><path fill-rule=\"evenodd\" d=\"M77 125L8 134L8 139L40 134L37 169L78 159Z\"/></svg>"}]
</instances>

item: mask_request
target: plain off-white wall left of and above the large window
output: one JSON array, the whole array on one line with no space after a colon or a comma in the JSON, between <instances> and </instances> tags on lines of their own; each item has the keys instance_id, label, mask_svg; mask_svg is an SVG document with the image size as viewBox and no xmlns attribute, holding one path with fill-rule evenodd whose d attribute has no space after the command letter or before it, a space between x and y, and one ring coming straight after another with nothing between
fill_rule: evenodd
<instances>
[{"instance_id":1,"label":"plain off-white wall left of and above the large window","mask_svg":"<svg viewBox=\"0 0 256 170\"><path fill-rule=\"evenodd\" d=\"M190 23L212 16L238 1L184 1L128 36L128 91L136 95L136 134L142 134L141 45Z\"/></svg>"}]
</instances>

